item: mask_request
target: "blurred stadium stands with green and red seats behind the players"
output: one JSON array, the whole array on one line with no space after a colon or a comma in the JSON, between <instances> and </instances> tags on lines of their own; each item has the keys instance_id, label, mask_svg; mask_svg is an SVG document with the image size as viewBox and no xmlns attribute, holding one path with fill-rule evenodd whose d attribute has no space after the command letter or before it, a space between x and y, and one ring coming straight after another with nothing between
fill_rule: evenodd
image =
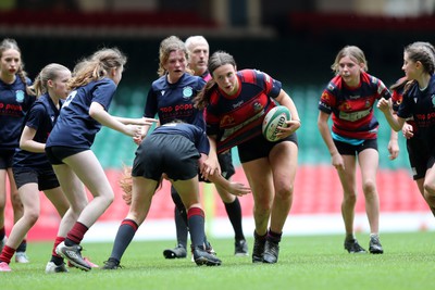
<instances>
[{"instance_id":1,"label":"blurred stadium stands with green and red seats behind the players","mask_svg":"<svg viewBox=\"0 0 435 290\"><path fill-rule=\"evenodd\" d=\"M288 2L288 3L287 3ZM15 38L25 70L34 78L58 62L69 67L102 47L119 47L128 56L111 113L142 114L147 90L157 78L158 49L169 35L185 39L203 35L211 52L232 53L239 68L258 68L282 80L302 119L294 205L286 235L343 232L341 189L330 166L330 155L316 127L316 103L332 78L331 64L346 45L359 46L369 73L389 86L402 76L403 47L412 41L435 43L433 0L2 0L0 37ZM388 160L389 127L376 112L380 127L381 231L434 229L433 217L409 173L403 138L400 156ZM117 178L130 164L135 146L129 138L103 128L92 148L116 192L116 200L86 239L112 239L125 217ZM235 152L235 151L233 151ZM246 181L235 152L235 180ZM213 186L201 194L212 237L232 235L224 206ZM52 205L41 193L41 216L30 240L52 239L59 225ZM245 232L253 230L252 199L240 199ZM157 192L149 219L136 238L173 239L173 202L169 185ZM12 210L7 209L7 230ZM211 218L212 217L212 218ZM368 230L362 192L357 204L357 228Z\"/></svg>"}]
</instances>

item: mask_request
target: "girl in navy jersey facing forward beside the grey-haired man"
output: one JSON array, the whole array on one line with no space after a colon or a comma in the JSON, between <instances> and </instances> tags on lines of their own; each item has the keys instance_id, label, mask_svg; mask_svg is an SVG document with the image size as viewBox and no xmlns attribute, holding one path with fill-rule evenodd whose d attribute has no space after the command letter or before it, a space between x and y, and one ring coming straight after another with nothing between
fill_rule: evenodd
<instances>
[{"instance_id":1,"label":"girl in navy jersey facing forward beside the grey-haired man","mask_svg":"<svg viewBox=\"0 0 435 290\"><path fill-rule=\"evenodd\" d=\"M194 108L192 99L206 81L201 77L192 76L187 70L186 47L178 37L170 36L160 43L158 75L160 77L152 81L148 91L144 116L154 117L157 114L161 125L179 119L204 129L203 112ZM171 188L171 196L177 209L182 210L182 215L186 215L174 187ZM182 236L177 235L178 238ZM163 255L167 259L186 257L186 239L179 239L177 247L165 250ZM206 245L212 251L208 241Z\"/></svg>"}]
</instances>

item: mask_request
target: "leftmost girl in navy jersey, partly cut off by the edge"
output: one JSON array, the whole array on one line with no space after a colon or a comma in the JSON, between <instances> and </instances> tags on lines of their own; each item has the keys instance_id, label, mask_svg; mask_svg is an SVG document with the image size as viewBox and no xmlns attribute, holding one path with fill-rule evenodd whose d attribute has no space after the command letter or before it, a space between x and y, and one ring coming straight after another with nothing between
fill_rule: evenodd
<instances>
[{"instance_id":1,"label":"leftmost girl in navy jersey, partly cut off by the edge","mask_svg":"<svg viewBox=\"0 0 435 290\"><path fill-rule=\"evenodd\" d=\"M7 177L10 184L14 222L23 216L23 204L12 174L12 157L18 148L20 133L26 112L35 101L22 62L21 50L14 39L0 42L0 250L7 237L4 230L4 206L7 201ZM26 240L16 249L15 261L27 263Z\"/></svg>"}]
</instances>

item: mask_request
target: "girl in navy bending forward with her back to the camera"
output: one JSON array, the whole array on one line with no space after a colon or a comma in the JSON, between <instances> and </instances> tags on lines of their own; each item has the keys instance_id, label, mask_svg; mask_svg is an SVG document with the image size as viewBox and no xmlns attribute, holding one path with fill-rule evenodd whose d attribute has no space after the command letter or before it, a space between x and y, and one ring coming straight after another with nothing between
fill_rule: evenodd
<instances>
[{"instance_id":1,"label":"girl in navy bending forward with her back to the camera","mask_svg":"<svg viewBox=\"0 0 435 290\"><path fill-rule=\"evenodd\" d=\"M127 217L117 231L110 259L103 269L116 269L137 228L147 217L152 196L159 188L162 175L172 182L187 209L188 226L192 244L194 261L197 265L221 265L221 260L208 253L203 247L204 212L199 199L198 172L209 154L206 133L190 124L166 123L152 131L139 146L128 181L124 182L124 199L130 203ZM241 196L250 192L241 184L229 182L220 175L211 180L226 190Z\"/></svg>"}]
</instances>

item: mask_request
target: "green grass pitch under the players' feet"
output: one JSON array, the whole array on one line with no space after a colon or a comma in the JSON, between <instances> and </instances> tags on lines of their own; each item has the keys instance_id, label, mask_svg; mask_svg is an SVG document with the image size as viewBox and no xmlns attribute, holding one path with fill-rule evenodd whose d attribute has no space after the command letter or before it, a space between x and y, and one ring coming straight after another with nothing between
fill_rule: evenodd
<instances>
[{"instance_id":1,"label":"green grass pitch under the players' feet","mask_svg":"<svg viewBox=\"0 0 435 290\"><path fill-rule=\"evenodd\" d=\"M250 256L235 257L232 239L212 239L223 264L198 267L190 255L164 260L162 251L173 241L133 241L119 270L45 274L51 242L32 242L29 264L11 263L11 273L0 273L0 289L432 289L435 232L384 234L383 255L348 254L343 235L286 236L277 264L252 264ZM357 236L368 248L369 235ZM248 239L252 249L252 239ZM112 243L83 242L84 256L102 265Z\"/></svg>"}]
</instances>

